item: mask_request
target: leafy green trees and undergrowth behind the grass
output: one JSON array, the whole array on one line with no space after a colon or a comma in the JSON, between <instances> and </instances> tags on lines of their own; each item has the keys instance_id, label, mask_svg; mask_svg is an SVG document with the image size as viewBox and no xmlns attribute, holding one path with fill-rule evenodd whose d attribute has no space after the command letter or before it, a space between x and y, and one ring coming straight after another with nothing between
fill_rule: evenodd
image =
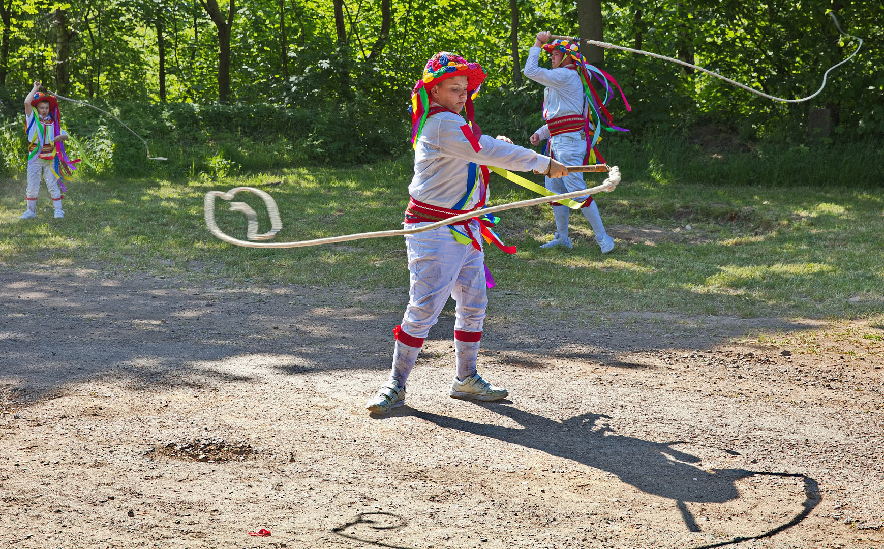
<instances>
[{"instance_id":1,"label":"leafy green trees and undergrowth behind the grass","mask_svg":"<svg viewBox=\"0 0 884 549\"><path fill-rule=\"evenodd\" d=\"M0 0L0 171L22 172L21 103L33 80L116 114L62 103L87 171L223 177L303 164L365 164L410 150L408 97L439 50L480 62L485 133L527 144L542 87L519 68L538 30L678 57L768 94L774 103L649 57L586 49L619 80L612 112L629 134L601 151L652 179L880 186L884 159L884 4L737 0ZM829 131L808 131L810 109ZM877 166L877 167L876 167Z\"/></svg>"}]
</instances>

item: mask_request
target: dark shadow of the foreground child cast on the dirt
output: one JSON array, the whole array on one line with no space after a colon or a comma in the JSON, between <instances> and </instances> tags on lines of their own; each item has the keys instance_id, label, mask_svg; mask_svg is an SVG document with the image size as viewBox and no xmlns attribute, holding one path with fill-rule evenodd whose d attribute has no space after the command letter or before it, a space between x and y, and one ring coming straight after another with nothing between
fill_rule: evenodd
<instances>
[{"instance_id":1,"label":"dark shadow of the foreground child cast on the dirt","mask_svg":"<svg viewBox=\"0 0 884 549\"><path fill-rule=\"evenodd\" d=\"M477 406L513 419L522 425L522 429L474 423L419 410L414 410L411 415L440 427L497 438L613 473L624 483L631 484L642 492L673 499L682 513L685 525L692 532L699 532L700 528L685 505L686 502L724 503L736 499L740 494L735 482L753 475L798 477L804 481L805 499L802 511L789 522L758 536L734 538L728 542L705 545L705 549L773 536L804 520L819 504L818 485L812 478L800 474L747 469L712 469L710 472L695 465L699 463L700 458L673 447L676 444L683 444L680 441L659 443L614 435L610 427L599 421L609 419L610 416L587 413L559 423L499 403L477 404Z\"/></svg>"}]
</instances>

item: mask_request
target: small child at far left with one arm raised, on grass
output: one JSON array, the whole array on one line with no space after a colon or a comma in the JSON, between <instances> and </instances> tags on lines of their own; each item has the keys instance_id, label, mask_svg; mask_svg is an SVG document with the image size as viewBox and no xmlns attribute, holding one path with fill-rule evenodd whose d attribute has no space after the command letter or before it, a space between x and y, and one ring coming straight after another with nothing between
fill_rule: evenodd
<instances>
[{"instance_id":1,"label":"small child at far left with one arm raised, on grass","mask_svg":"<svg viewBox=\"0 0 884 549\"><path fill-rule=\"evenodd\" d=\"M58 111L56 97L38 91L40 88L40 82L34 82L34 88L25 98L25 124L30 146L27 154L27 210L19 216L22 219L37 217L41 176L55 204L55 217L65 217L65 211L61 209L65 198L61 193L67 191L64 179L70 179L76 169L74 164L80 162L68 160L65 152L67 132L61 129L61 111Z\"/></svg>"}]
</instances>

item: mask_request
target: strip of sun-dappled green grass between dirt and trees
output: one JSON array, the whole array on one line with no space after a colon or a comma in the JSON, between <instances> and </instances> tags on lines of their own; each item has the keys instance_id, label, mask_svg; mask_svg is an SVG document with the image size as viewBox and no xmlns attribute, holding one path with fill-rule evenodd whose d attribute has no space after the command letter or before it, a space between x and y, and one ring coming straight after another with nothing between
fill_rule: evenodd
<instances>
[{"instance_id":1,"label":"strip of sun-dappled green grass between dirt and trees","mask_svg":"<svg viewBox=\"0 0 884 549\"><path fill-rule=\"evenodd\" d=\"M217 181L78 179L69 185L65 219L52 218L44 187L38 217L31 220L17 218L24 210L23 176L0 179L0 263L19 270L87 268L118 277L149 272L404 289L408 271L401 238L237 248L206 231L202 197L209 190L261 187L274 196L283 217L276 240L306 240L400 227L410 174L404 162ZM267 185L276 181L282 183ZM243 196L237 200L264 211L260 199ZM492 203L501 203L533 195L493 176L492 196ZM652 229L657 236L621 241L601 255L577 214L575 248L541 250L553 230L551 210L504 212L500 233L520 251L504 255L486 247L499 285L492 306L553 316L629 310L743 317L858 317L884 306L884 190L683 185L630 179L627 172L613 194L597 199L609 227ZM226 211L223 202L217 201L218 224L244 239L244 217ZM265 227L263 215L260 230Z\"/></svg>"}]
</instances>

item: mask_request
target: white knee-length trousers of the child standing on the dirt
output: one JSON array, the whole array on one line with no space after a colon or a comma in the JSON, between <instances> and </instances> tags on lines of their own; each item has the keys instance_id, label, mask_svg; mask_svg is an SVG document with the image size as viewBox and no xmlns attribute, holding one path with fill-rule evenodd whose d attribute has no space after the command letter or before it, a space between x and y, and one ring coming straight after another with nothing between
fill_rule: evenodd
<instances>
[{"instance_id":1,"label":"white knee-length trousers of the child standing on the dirt","mask_svg":"<svg viewBox=\"0 0 884 549\"><path fill-rule=\"evenodd\" d=\"M481 242L479 224L473 221L470 228ZM454 329L482 332L488 306L484 252L454 240L448 227L408 234L405 243L411 274L402 331L426 338L451 296L456 302Z\"/></svg>"}]
</instances>

